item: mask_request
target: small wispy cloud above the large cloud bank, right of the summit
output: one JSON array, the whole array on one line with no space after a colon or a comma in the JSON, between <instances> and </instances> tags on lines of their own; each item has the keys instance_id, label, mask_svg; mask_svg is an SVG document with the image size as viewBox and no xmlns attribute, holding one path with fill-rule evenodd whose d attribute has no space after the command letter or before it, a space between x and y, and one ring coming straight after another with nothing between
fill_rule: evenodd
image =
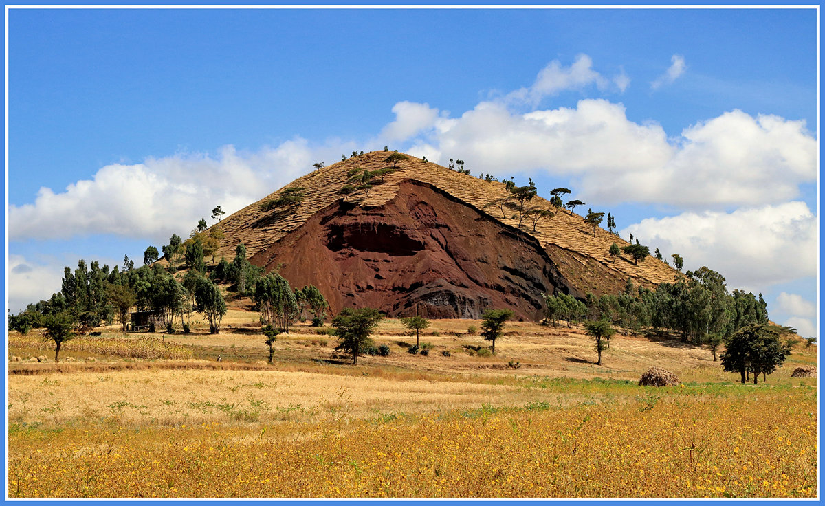
<instances>
[{"instance_id":1,"label":"small wispy cloud above the large cloud bank, right of the summit","mask_svg":"<svg viewBox=\"0 0 825 506\"><path fill-rule=\"evenodd\" d=\"M558 95L566 90L581 90L596 85L601 91L610 87L611 80L593 70L593 60L587 54L579 54L569 67L564 67L558 59L554 59L541 69L530 87L522 87L511 92L506 102L524 102L537 104L544 97ZM622 69L621 73L612 79L615 87L621 92L629 86L630 78Z\"/></svg>"}]
</instances>

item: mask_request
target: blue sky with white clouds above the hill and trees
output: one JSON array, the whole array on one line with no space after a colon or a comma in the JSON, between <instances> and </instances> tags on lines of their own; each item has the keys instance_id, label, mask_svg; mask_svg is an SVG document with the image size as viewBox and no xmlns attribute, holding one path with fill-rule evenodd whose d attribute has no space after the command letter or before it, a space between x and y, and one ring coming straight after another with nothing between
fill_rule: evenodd
<instances>
[{"instance_id":1,"label":"blue sky with white clouds above the hill and trees","mask_svg":"<svg viewBox=\"0 0 825 506\"><path fill-rule=\"evenodd\" d=\"M625 238L763 291L772 318L813 335L816 21L12 10L11 309L56 291L77 258L142 259L216 204L237 210L311 163L389 144L568 186Z\"/></svg>"}]
</instances>

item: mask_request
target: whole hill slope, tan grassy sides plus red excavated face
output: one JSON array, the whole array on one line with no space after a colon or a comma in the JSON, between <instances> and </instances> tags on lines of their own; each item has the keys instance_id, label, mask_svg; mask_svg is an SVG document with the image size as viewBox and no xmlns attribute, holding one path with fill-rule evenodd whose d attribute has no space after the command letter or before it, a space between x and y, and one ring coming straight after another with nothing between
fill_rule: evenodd
<instances>
[{"instance_id":1,"label":"whole hill slope, tan grassy sides plus red excavated face","mask_svg":"<svg viewBox=\"0 0 825 506\"><path fill-rule=\"evenodd\" d=\"M628 243L601 228L594 236L581 216L566 210L540 220L535 232L532 224L518 229L517 219L488 206L507 195L503 183L420 158L399 162L369 194L340 192L354 171L387 167L389 154L375 151L321 168L228 216L219 223L224 239L216 258L231 260L243 242L247 257L267 271L283 264L293 286L325 286L332 310L380 305L373 299L381 297L382 309L406 314L418 300L451 297L440 300L450 311L430 307L429 314L441 317L475 317L480 305L511 305L532 318L540 312L540 291L599 295L619 291L628 277L644 286L674 279L672 268L653 257L638 266L610 258L610 244ZM299 205L262 210L262 202L289 187L304 188ZM554 210L541 196L530 206ZM422 280L430 285L427 294L411 295Z\"/></svg>"}]
</instances>

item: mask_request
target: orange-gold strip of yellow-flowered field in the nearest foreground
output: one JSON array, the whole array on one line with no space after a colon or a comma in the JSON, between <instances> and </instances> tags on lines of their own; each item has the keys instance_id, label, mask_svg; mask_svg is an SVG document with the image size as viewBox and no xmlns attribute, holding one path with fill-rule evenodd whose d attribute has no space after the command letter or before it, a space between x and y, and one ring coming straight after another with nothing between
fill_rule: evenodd
<instances>
[{"instance_id":1,"label":"orange-gold strip of yellow-flowered field in the nearest foreground","mask_svg":"<svg viewBox=\"0 0 825 506\"><path fill-rule=\"evenodd\" d=\"M817 494L815 390L633 388L620 404L368 420L351 418L345 394L309 425L13 424L8 486L12 497Z\"/></svg>"}]
</instances>

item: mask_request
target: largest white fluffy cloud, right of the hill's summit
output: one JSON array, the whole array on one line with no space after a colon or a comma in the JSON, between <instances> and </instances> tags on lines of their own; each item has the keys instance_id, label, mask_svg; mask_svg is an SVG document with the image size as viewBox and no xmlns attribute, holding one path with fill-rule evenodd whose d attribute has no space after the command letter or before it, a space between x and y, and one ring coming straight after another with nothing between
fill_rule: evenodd
<instances>
[{"instance_id":1,"label":"largest white fluffy cloud, right of the hill's summit","mask_svg":"<svg viewBox=\"0 0 825 506\"><path fill-rule=\"evenodd\" d=\"M428 146L434 161L464 153L474 172L572 177L584 200L605 205L759 206L788 201L816 179L816 140L804 121L738 110L668 139L661 125L629 121L624 106L603 99L524 114L481 102L459 118L438 118L412 143Z\"/></svg>"}]
</instances>

